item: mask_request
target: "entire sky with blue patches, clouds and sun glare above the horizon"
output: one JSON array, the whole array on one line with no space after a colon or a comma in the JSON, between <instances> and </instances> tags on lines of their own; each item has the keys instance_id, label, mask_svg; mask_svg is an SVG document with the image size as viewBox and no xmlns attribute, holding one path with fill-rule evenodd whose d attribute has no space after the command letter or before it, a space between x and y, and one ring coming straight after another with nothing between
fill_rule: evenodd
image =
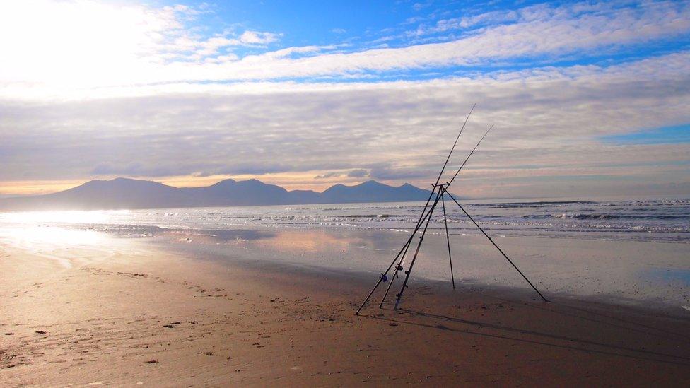
<instances>
[{"instance_id":1,"label":"entire sky with blue patches, clouds and sun glare above the horizon","mask_svg":"<svg viewBox=\"0 0 690 388\"><path fill-rule=\"evenodd\" d=\"M94 179L690 197L689 1L0 1L0 196Z\"/></svg>"}]
</instances>

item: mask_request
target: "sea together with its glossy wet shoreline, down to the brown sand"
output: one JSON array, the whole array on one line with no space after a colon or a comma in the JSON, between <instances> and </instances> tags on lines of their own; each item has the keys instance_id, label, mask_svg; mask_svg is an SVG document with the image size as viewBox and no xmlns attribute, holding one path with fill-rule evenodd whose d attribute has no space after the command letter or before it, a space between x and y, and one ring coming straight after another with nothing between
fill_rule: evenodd
<instances>
[{"instance_id":1,"label":"sea together with its glossy wet shoreline, down to the brown sand","mask_svg":"<svg viewBox=\"0 0 690 388\"><path fill-rule=\"evenodd\" d=\"M690 311L690 199L466 199L460 204L549 295ZM424 205L0 213L0 254L7 245L69 267L79 248L96 249L107 258L112 252L156 247L199 259L376 279L414 230ZM443 205L431 216L415 278L448 283L450 246L461 284L527 288L457 204L445 201L445 213Z\"/></svg>"}]
</instances>

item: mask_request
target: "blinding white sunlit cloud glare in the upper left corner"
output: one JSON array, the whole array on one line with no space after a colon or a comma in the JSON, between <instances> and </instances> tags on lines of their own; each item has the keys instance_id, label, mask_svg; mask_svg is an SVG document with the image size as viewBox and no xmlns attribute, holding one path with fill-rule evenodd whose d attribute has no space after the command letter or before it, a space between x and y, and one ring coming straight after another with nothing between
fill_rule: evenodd
<instances>
[{"instance_id":1,"label":"blinding white sunlit cloud glare in the upper left corner","mask_svg":"<svg viewBox=\"0 0 690 388\"><path fill-rule=\"evenodd\" d=\"M195 23L207 12L204 6L89 0L1 2L0 90L7 83L69 90L184 80L179 71L237 59L228 47L268 45L281 37L257 30L204 36ZM209 57L215 60L201 61Z\"/></svg>"}]
</instances>

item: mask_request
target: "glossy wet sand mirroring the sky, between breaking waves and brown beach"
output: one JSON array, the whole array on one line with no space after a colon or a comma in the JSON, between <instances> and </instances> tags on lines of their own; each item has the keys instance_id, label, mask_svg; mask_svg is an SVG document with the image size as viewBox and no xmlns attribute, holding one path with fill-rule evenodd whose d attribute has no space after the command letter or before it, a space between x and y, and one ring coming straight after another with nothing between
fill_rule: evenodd
<instances>
[{"instance_id":1,"label":"glossy wet sand mirroring the sky, between breaking waves and brown beach","mask_svg":"<svg viewBox=\"0 0 690 388\"><path fill-rule=\"evenodd\" d=\"M66 216L73 217L72 214ZM83 229L85 227L88 229ZM146 249L144 244L153 242L157 248L183 251L199 259L245 261L250 265L270 261L318 271L366 274L373 278L387 268L407 237L407 233L392 230L277 227L216 230L155 225L122 228L114 224L79 226L69 223L47 226L34 218L0 223L0 243L57 260L63 267L73 266L75 261L86 261L75 258L75 248L96 252L88 260L94 257L103 260L112 254L127 254L135 246ZM684 258L690 245L497 238L522 271L546 293L687 305L690 275ZM461 284L526 286L484 237L453 235L450 245L455 279ZM422 278L450 280L445 235L427 235L415 264L413 281Z\"/></svg>"}]
</instances>

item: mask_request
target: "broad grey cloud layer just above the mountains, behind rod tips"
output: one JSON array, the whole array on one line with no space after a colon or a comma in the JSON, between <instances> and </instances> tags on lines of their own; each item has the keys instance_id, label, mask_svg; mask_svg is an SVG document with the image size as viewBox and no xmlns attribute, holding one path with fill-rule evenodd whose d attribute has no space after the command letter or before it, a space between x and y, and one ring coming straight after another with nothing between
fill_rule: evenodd
<instances>
[{"instance_id":1,"label":"broad grey cloud layer just above the mountains, behind rod tips","mask_svg":"<svg viewBox=\"0 0 690 388\"><path fill-rule=\"evenodd\" d=\"M0 182L248 174L281 183L330 172L351 182L368 172L426 187L478 102L452 165L489 124L496 130L460 175L463 195L577 192L554 186L563 177L585 194L604 181L621 192L631 180L667 187L690 181L688 144L599 139L690 122L689 66L690 54L678 53L475 78L165 86L90 100L0 100Z\"/></svg>"}]
</instances>

